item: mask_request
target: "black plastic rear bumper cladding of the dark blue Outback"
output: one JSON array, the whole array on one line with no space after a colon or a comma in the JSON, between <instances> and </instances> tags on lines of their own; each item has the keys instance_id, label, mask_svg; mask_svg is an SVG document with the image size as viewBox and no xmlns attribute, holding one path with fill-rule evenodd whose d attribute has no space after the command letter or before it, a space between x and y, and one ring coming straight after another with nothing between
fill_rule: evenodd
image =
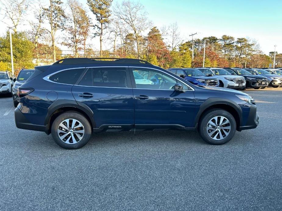
<instances>
[{"instance_id":1,"label":"black plastic rear bumper cladding of the dark blue Outback","mask_svg":"<svg viewBox=\"0 0 282 211\"><path fill-rule=\"evenodd\" d=\"M30 123L18 108L15 109L15 123L17 128L25 130L36 130L45 132L46 128L44 125L34 125Z\"/></svg>"}]
</instances>

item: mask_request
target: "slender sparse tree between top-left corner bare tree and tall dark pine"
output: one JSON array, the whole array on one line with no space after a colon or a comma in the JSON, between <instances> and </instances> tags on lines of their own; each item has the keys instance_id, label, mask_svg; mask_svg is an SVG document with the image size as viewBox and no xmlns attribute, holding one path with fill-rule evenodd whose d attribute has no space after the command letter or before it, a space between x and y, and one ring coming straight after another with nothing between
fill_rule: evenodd
<instances>
[{"instance_id":1,"label":"slender sparse tree between top-left corner bare tree and tall dark pine","mask_svg":"<svg viewBox=\"0 0 282 211\"><path fill-rule=\"evenodd\" d=\"M38 65L39 61L39 50L38 50L38 43L39 39L44 34L44 30L42 29L42 7L39 6L38 10L35 10L35 20L36 21L30 21L31 30L29 31L30 40L34 43L34 53L36 58L36 65Z\"/></svg>"}]
</instances>

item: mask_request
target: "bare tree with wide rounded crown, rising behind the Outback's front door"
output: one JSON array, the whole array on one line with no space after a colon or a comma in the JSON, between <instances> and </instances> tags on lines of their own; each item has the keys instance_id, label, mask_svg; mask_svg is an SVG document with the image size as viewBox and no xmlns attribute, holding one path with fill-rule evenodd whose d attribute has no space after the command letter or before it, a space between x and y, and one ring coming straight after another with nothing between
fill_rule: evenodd
<instances>
[{"instance_id":1,"label":"bare tree with wide rounded crown, rising behind the Outback's front door","mask_svg":"<svg viewBox=\"0 0 282 211\"><path fill-rule=\"evenodd\" d=\"M114 11L115 15L133 30L137 44L137 54L140 59L140 36L142 32L151 26L144 6L140 2L123 1L121 4L116 4Z\"/></svg>"}]
</instances>

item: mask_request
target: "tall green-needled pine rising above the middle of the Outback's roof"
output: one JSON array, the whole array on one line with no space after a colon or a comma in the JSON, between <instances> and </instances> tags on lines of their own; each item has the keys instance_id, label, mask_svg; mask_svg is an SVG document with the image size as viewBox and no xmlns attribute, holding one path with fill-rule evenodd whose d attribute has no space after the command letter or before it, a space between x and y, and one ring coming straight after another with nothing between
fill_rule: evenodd
<instances>
[{"instance_id":1,"label":"tall green-needled pine rising above the middle of the Outback's roof","mask_svg":"<svg viewBox=\"0 0 282 211\"><path fill-rule=\"evenodd\" d=\"M96 27L99 29L100 36L100 57L102 57L102 42L104 29L108 28L111 16L111 10L109 9L112 5L112 0L87 0L87 4L93 14L96 16L96 20L99 24Z\"/></svg>"}]
</instances>

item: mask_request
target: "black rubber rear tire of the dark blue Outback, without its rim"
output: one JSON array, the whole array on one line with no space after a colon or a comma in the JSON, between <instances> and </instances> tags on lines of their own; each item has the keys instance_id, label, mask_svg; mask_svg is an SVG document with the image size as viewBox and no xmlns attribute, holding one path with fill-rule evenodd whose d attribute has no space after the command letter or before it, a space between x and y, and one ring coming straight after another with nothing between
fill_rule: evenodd
<instances>
[{"instance_id":1,"label":"black rubber rear tire of the dark blue Outback, without its rim","mask_svg":"<svg viewBox=\"0 0 282 211\"><path fill-rule=\"evenodd\" d=\"M66 119L76 119L83 125L84 136L76 144L66 144L64 141L62 141L59 138L59 135L58 135L59 124L63 120L66 120ZM52 127L51 127L51 134L52 134L54 141L60 147L65 148L65 149L79 149L80 147L83 147L85 144L87 144L87 142L89 141L92 135L92 128L91 128L91 124L89 123L89 121L83 115L81 115L79 112L70 111L70 112L62 113L54 120Z\"/></svg>"}]
</instances>

